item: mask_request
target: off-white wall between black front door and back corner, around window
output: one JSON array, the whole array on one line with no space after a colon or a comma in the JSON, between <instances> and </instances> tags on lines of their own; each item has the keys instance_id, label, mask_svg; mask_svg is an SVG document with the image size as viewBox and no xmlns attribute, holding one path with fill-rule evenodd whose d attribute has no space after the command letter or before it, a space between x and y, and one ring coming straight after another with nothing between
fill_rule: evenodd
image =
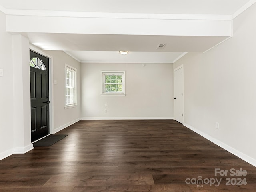
<instances>
[{"instance_id":1,"label":"off-white wall between black front door and back corner, around window","mask_svg":"<svg viewBox=\"0 0 256 192\"><path fill-rule=\"evenodd\" d=\"M44 51L53 57L54 84L54 133L80 120L80 62L62 51ZM65 64L77 69L77 106L64 108L65 104Z\"/></svg>"}]
</instances>

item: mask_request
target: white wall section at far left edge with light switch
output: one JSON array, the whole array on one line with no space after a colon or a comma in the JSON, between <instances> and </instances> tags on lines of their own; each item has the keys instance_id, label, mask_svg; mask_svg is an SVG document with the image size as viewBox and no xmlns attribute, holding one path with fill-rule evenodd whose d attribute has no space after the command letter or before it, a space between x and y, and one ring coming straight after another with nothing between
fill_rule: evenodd
<instances>
[{"instance_id":1,"label":"white wall section at far left edge with light switch","mask_svg":"<svg viewBox=\"0 0 256 192\"><path fill-rule=\"evenodd\" d=\"M0 159L13 152L12 35L6 32L6 15L0 12Z\"/></svg>"}]
</instances>

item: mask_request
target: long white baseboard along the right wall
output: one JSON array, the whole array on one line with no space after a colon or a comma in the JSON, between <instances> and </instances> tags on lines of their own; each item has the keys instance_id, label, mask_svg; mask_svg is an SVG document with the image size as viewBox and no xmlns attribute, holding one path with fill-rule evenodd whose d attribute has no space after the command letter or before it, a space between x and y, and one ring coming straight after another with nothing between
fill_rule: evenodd
<instances>
[{"instance_id":1,"label":"long white baseboard along the right wall","mask_svg":"<svg viewBox=\"0 0 256 192\"><path fill-rule=\"evenodd\" d=\"M255 166L256 167L256 160L254 158L251 158L250 156L236 150L235 148L232 148L230 147L229 145L221 142L220 140L217 140L216 138L208 135L208 134L205 134L204 132L184 123L183 124L185 127L189 128L190 130L196 132L197 134L199 134L200 136L208 139L209 141L213 142L214 144L220 146L221 148L227 150L228 152L234 154L235 156L239 157L240 159L250 163L251 165Z\"/></svg>"}]
</instances>

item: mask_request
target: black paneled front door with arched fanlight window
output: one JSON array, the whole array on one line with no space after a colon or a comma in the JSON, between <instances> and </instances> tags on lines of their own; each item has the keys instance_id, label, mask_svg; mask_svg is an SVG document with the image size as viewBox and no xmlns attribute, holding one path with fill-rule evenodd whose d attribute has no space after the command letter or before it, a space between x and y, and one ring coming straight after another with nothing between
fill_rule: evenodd
<instances>
[{"instance_id":1,"label":"black paneled front door with arched fanlight window","mask_svg":"<svg viewBox=\"0 0 256 192\"><path fill-rule=\"evenodd\" d=\"M49 134L49 58L30 51L31 142Z\"/></svg>"}]
</instances>

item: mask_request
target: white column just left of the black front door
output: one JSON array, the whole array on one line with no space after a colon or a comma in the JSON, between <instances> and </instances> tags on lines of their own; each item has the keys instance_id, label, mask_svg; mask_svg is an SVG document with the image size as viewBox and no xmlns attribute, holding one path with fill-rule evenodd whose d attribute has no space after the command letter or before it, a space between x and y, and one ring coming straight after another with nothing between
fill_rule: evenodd
<instances>
[{"instance_id":1,"label":"white column just left of the black front door","mask_svg":"<svg viewBox=\"0 0 256 192\"><path fill-rule=\"evenodd\" d=\"M14 153L33 148L30 123L29 40L17 34L12 37L14 92Z\"/></svg>"}]
</instances>

